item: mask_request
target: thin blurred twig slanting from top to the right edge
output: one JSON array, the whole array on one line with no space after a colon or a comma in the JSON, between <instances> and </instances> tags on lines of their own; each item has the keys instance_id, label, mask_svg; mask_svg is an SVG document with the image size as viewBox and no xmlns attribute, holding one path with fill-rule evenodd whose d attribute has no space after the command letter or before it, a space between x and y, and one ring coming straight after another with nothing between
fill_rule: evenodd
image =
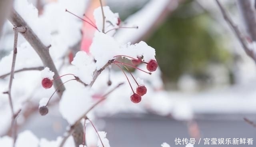
<instances>
[{"instance_id":1,"label":"thin blurred twig slanting from top to the right edge","mask_svg":"<svg viewBox=\"0 0 256 147\"><path fill-rule=\"evenodd\" d=\"M242 33L240 32L240 30L238 29L238 27L234 24L234 22L231 20L231 18L228 16L226 10L223 8L223 6L220 4L219 0L216 0L222 15L224 17L224 19L228 22L228 24L230 25L230 27L234 30L236 37L238 38L238 40L240 41L240 43L242 44L244 51L246 52L246 54L248 56L250 56L254 61L256 61L256 57L254 56L253 51L247 46L247 41L246 38L242 35Z\"/></svg>"}]
</instances>

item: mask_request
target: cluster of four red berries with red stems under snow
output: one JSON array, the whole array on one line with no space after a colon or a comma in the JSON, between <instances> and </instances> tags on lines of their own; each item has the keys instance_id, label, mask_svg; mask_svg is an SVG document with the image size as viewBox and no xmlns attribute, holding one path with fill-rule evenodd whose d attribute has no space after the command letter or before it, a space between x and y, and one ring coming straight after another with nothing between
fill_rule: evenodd
<instances>
[{"instance_id":1,"label":"cluster of four red berries with red stems under snow","mask_svg":"<svg viewBox=\"0 0 256 147\"><path fill-rule=\"evenodd\" d=\"M125 56L125 55L118 55L118 56ZM118 56L115 56L115 57L118 57ZM142 61L142 58L138 57L138 59L135 59L135 58L132 58L132 57L129 57L129 56L125 56L125 57L128 57L128 58L131 58L132 59L132 64L127 64L127 63L123 63L123 62L118 62L118 61L114 61L113 63L118 66L121 70L122 68L118 65L118 64L121 64L122 66L124 66L124 68L126 68L126 66L130 66L130 67L133 67L133 68L136 68L142 72L145 72L147 74L151 74L151 72L154 72L156 71L157 67L158 67L158 63L156 62L156 60L150 60L149 62L144 62ZM136 67L138 64L140 63L145 63L147 64L147 70L149 72L146 72L144 70L141 70L140 68ZM128 70L128 68L126 68L126 70ZM124 75L126 76L129 84L130 84L130 81L127 77L127 75L125 74L124 70L122 70ZM132 75L132 73L128 70L128 72ZM136 81L136 79L134 78L134 76L132 75L132 78L134 79L134 81L137 83L138 87L136 88L136 93L134 92L134 90L132 89L132 85L130 84L130 87L132 89L132 92L133 94L131 95L131 101L133 103L139 103L141 101L141 97L147 93L147 88L144 86L144 85L139 85L138 82Z\"/></svg>"}]
</instances>

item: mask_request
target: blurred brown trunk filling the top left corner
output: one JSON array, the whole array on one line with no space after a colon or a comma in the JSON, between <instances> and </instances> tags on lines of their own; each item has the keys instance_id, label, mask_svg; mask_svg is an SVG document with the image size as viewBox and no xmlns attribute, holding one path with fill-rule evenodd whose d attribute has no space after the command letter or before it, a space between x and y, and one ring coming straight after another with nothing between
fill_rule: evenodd
<instances>
[{"instance_id":1,"label":"blurred brown trunk filling the top left corner","mask_svg":"<svg viewBox=\"0 0 256 147\"><path fill-rule=\"evenodd\" d=\"M0 0L0 36L2 35L2 28L4 22L8 15L10 14L12 3L13 0Z\"/></svg>"}]
</instances>

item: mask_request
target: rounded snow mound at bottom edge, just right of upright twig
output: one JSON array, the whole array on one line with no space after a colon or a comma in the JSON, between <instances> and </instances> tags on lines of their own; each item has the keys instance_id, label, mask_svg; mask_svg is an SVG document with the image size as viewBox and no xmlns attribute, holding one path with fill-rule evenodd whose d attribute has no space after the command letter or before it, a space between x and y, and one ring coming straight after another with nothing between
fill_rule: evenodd
<instances>
[{"instance_id":1,"label":"rounded snow mound at bottom edge, just right of upright twig","mask_svg":"<svg viewBox=\"0 0 256 147\"><path fill-rule=\"evenodd\" d=\"M39 139L29 130L18 134L15 147L38 147Z\"/></svg>"}]
</instances>

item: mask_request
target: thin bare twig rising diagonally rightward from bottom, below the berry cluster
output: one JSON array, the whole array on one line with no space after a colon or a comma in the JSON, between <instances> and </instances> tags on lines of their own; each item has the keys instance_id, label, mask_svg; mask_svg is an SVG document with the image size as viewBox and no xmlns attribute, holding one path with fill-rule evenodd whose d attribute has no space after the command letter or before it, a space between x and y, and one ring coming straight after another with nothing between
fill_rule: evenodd
<instances>
[{"instance_id":1,"label":"thin bare twig rising diagonally rightward from bottom, below the berry cluster","mask_svg":"<svg viewBox=\"0 0 256 147\"><path fill-rule=\"evenodd\" d=\"M108 91L108 93L104 94L102 96L102 98L100 100L98 100L96 103L94 103L94 105L92 105L83 115L82 117L80 117L73 125L71 125L70 129L65 133L66 135L64 136L62 142L60 143L59 147L63 147L63 145L65 144L66 140L68 139L68 137L74 132L74 129L77 128L77 126L80 126L81 123L81 119L86 118L87 119L87 114L94 108L96 107L99 103L101 103L102 101L104 101L106 99L106 96L109 95L111 92L113 92L115 89L117 89L120 85L123 85L124 83L120 83L118 84L116 87L114 87L113 89L111 89L110 91Z\"/></svg>"}]
</instances>

